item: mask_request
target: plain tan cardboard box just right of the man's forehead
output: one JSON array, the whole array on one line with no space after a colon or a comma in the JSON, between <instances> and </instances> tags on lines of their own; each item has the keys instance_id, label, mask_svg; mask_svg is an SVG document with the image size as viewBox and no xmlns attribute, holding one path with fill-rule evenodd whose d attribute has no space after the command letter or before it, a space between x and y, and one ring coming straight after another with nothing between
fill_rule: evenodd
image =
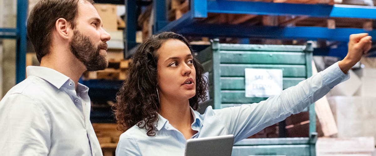
<instances>
[{"instance_id":1,"label":"plain tan cardboard box just right of the man's forehead","mask_svg":"<svg viewBox=\"0 0 376 156\"><path fill-rule=\"evenodd\" d=\"M94 4L100 18L103 21L103 28L106 31L117 30L116 5L114 4Z\"/></svg>"}]
</instances>

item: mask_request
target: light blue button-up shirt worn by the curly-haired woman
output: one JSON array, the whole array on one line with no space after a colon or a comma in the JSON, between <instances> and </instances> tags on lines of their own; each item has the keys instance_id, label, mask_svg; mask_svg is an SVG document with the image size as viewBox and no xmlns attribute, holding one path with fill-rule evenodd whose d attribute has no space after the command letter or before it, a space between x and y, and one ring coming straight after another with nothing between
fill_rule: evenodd
<instances>
[{"instance_id":1,"label":"light blue button-up shirt worn by the curly-haired woman","mask_svg":"<svg viewBox=\"0 0 376 156\"><path fill-rule=\"evenodd\" d=\"M338 83L350 76L344 74L338 62L324 71L285 89L280 95L254 104L213 110L206 108L204 114L191 112L197 131L191 138L233 134L234 143L261 131L267 126L299 113L323 97ZM167 119L159 115L156 135L149 137L146 130L133 126L121 134L116 149L117 156L183 156L186 140L181 132Z\"/></svg>"}]
</instances>

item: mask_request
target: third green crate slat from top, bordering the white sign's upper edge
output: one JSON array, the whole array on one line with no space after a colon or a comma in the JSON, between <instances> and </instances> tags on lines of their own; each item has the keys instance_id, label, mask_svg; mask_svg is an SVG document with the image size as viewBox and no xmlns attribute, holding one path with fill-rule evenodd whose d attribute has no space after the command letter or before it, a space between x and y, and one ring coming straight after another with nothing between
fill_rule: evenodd
<instances>
[{"instance_id":1,"label":"third green crate slat from top, bordering the white sign's upper edge","mask_svg":"<svg viewBox=\"0 0 376 156\"><path fill-rule=\"evenodd\" d=\"M222 77L244 77L245 68L282 69L283 77L306 77L305 65L221 64Z\"/></svg>"}]
</instances>

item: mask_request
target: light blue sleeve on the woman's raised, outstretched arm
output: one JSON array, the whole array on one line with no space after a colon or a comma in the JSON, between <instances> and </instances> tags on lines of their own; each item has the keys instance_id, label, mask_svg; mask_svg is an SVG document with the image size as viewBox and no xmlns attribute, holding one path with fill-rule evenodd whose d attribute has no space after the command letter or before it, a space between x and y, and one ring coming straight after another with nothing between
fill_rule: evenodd
<instances>
[{"instance_id":1,"label":"light blue sleeve on the woman's raised, outstretched arm","mask_svg":"<svg viewBox=\"0 0 376 156\"><path fill-rule=\"evenodd\" d=\"M349 77L349 74L344 74L336 62L324 71L265 101L214 110L214 113L228 128L229 134L235 136L234 143L236 143L286 119L291 114L303 111Z\"/></svg>"}]
</instances>

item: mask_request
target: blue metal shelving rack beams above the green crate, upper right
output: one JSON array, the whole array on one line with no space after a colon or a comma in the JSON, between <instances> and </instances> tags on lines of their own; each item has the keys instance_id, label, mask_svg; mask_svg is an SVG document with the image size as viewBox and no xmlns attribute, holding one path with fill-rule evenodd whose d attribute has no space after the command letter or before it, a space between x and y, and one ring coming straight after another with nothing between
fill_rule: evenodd
<instances>
[{"instance_id":1,"label":"blue metal shelving rack beams above the green crate, upper right","mask_svg":"<svg viewBox=\"0 0 376 156\"><path fill-rule=\"evenodd\" d=\"M208 13L233 13L253 15L296 15L317 18L367 18L376 19L376 7L354 5L326 5L326 4L291 4L291 3L266 3L254 1L235 0L190 0L190 11L181 18L168 22L166 1L153 1L155 23L153 33L174 31L185 36L205 37L239 37L239 38L265 38L265 39L326 39L341 42L336 49L315 49L314 55L337 56L343 58L347 51L346 42L350 34L369 33L376 39L376 30L366 31L360 28L335 28L324 27L266 27L245 25L205 24L203 18ZM131 9L132 5L127 6ZM134 13L133 13L134 14ZM131 12L127 16L134 16ZM131 18L129 18L131 19ZM128 22L129 24L132 22ZM127 30L127 36L135 36L135 31ZM127 38L128 49L135 46L135 38ZM126 54L129 56L130 54Z\"/></svg>"}]
</instances>

